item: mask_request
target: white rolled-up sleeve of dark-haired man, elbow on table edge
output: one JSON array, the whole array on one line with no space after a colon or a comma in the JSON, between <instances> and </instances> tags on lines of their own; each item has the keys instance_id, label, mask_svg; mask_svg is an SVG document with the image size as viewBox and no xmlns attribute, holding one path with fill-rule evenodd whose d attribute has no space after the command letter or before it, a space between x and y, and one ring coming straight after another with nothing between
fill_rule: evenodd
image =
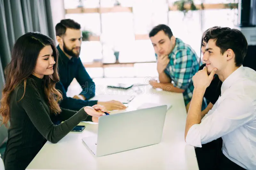
<instances>
[{"instance_id":1,"label":"white rolled-up sleeve of dark-haired man, elbow on table edge","mask_svg":"<svg viewBox=\"0 0 256 170\"><path fill-rule=\"evenodd\" d=\"M210 110L200 124L188 130L186 143L196 147L220 138L255 119L255 101L245 96L224 99L216 110Z\"/></svg>"}]
</instances>

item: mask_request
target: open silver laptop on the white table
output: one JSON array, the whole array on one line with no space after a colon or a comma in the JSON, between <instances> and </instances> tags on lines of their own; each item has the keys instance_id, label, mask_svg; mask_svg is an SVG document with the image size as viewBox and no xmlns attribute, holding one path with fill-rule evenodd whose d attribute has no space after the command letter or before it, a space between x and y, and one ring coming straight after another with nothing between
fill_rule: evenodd
<instances>
[{"instance_id":1,"label":"open silver laptop on the white table","mask_svg":"<svg viewBox=\"0 0 256 170\"><path fill-rule=\"evenodd\" d=\"M98 135L82 138L96 156L123 152L161 141L166 105L99 118Z\"/></svg>"}]
</instances>

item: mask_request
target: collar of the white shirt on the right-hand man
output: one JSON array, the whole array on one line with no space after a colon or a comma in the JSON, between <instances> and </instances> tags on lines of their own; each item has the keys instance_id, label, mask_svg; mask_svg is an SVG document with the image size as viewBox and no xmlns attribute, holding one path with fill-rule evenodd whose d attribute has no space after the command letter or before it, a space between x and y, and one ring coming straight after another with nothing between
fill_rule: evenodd
<instances>
[{"instance_id":1,"label":"collar of the white shirt on the right-hand man","mask_svg":"<svg viewBox=\"0 0 256 170\"><path fill-rule=\"evenodd\" d=\"M239 76L242 74L243 71L244 71L244 66L242 65L239 68L237 68L236 71L231 73L228 76L228 78L226 78L226 80L223 81L220 88L221 95L237 81L237 78L239 78Z\"/></svg>"}]
</instances>

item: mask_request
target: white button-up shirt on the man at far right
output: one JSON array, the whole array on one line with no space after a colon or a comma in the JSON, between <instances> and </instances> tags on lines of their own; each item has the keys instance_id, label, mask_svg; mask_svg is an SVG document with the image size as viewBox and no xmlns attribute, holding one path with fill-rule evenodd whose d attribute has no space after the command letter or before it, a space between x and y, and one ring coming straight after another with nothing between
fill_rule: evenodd
<instances>
[{"instance_id":1,"label":"white button-up shirt on the man at far right","mask_svg":"<svg viewBox=\"0 0 256 170\"><path fill-rule=\"evenodd\" d=\"M256 169L256 72L239 67L222 83L221 96L188 130L186 142L202 144L222 137L223 154L245 169Z\"/></svg>"}]
</instances>

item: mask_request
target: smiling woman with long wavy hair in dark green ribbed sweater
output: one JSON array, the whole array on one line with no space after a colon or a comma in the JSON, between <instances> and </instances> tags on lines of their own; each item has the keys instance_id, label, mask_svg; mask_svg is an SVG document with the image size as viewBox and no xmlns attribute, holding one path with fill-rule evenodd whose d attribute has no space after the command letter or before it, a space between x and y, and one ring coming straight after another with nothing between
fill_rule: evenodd
<instances>
[{"instance_id":1,"label":"smiling woman with long wavy hair in dark green ribbed sweater","mask_svg":"<svg viewBox=\"0 0 256 170\"><path fill-rule=\"evenodd\" d=\"M48 36L28 32L14 44L0 104L3 124L10 121L5 170L24 170L47 140L57 143L88 115L97 121L107 111L100 105L78 112L61 109L57 63L58 51Z\"/></svg>"}]
</instances>

